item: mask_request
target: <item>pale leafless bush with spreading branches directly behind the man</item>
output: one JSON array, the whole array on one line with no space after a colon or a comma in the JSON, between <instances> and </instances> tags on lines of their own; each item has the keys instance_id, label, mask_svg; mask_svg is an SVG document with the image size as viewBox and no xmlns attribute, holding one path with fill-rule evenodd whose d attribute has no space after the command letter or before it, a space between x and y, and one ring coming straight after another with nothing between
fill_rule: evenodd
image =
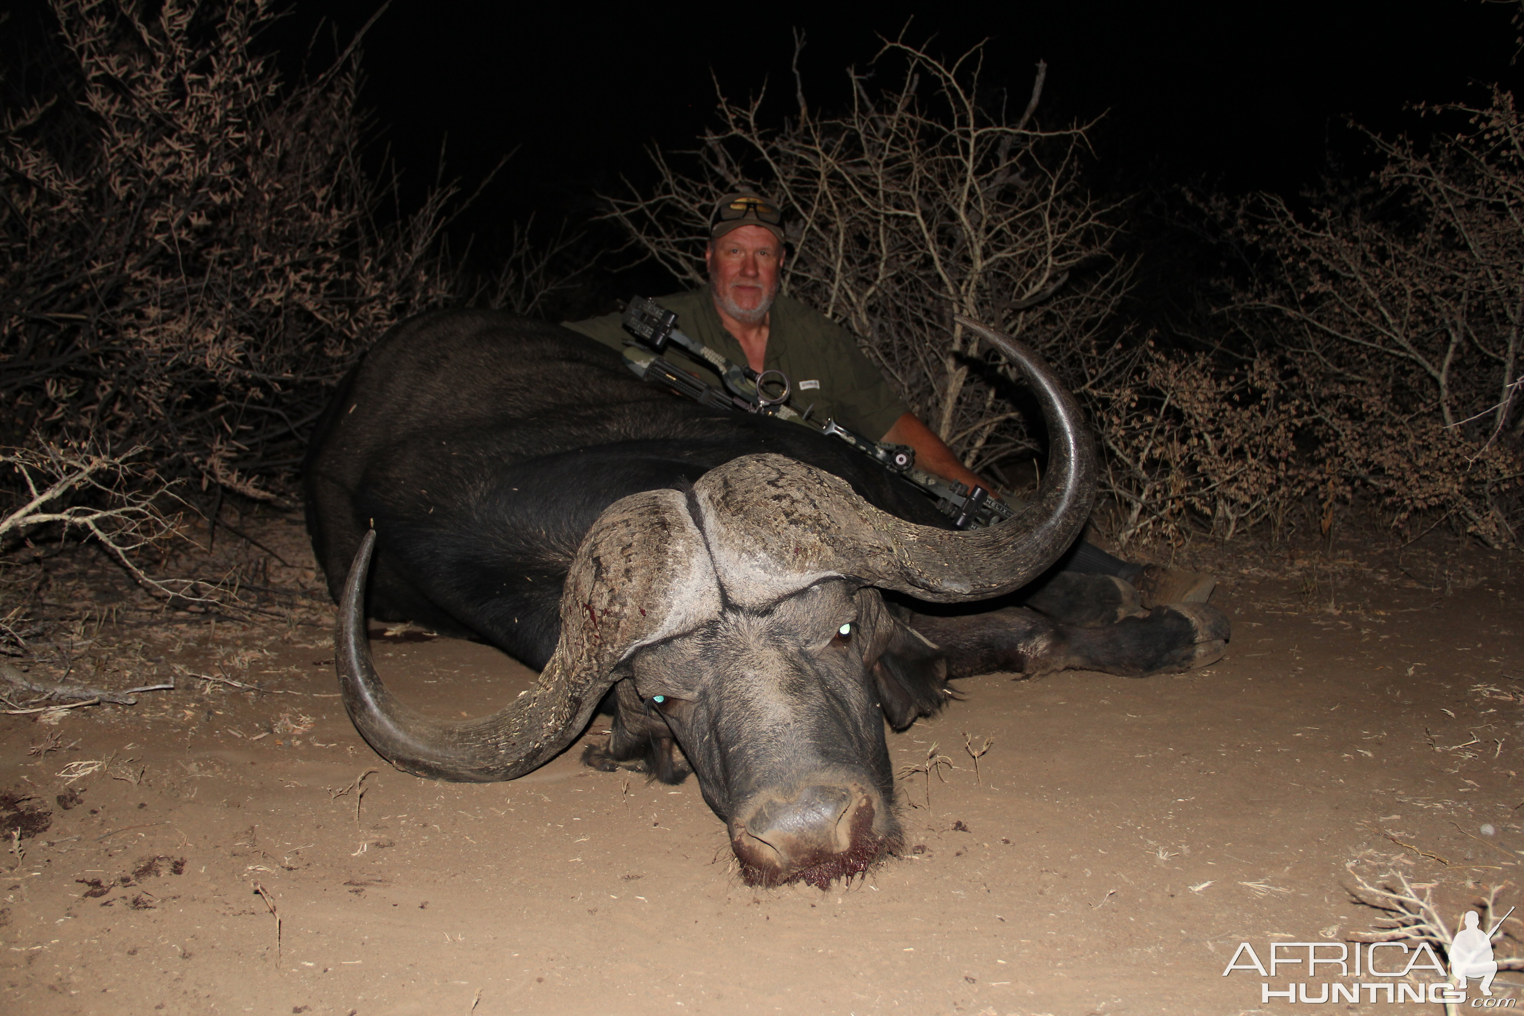
<instances>
[{"instance_id":1,"label":"pale leafless bush with spreading branches directly behind the man","mask_svg":"<svg viewBox=\"0 0 1524 1016\"><path fill-rule=\"evenodd\" d=\"M981 88L980 62L980 49L943 61L896 40L872 73L847 70L843 111L811 107L800 82L779 126L765 96L721 94L721 126L696 151L654 151L655 187L608 201L645 254L695 285L719 193L750 186L786 203L788 291L856 332L969 468L998 469L1035 445L997 398L1009 367L952 315L1024 338L1076 382L1129 273L1108 254L1116 209L1079 183L1087 128L1036 125L1045 65L1010 108Z\"/></svg>"}]
</instances>

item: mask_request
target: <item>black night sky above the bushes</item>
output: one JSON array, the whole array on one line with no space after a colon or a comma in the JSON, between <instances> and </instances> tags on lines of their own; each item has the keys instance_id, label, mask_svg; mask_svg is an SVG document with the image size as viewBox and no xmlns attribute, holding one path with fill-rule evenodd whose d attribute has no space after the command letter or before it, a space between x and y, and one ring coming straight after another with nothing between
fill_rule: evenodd
<instances>
[{"instance_id":1,"label":"black night sky above the bushes","mask_svg":"<svg viewBox=\"0 0 1524 1016\"><path fill-rule=\"evenodd\" d=\"M271 43L299 53L328 18L347 38L375 0L303 0ZM866 64L875 32L934 35L960 53L989 38L985 81L1021 99L1050 65L1049 123L1106 114L1097 180L1295 192L1323 165L1343 114L1402 123L1413 101L1483 101L1474 82L1515 82L1516 6L1425 3L882 3L588 6L392 0L366 40L366 104L413 186L427 183L448 136L448 168L480 178L518 154L471 216L479 227L541 209L585 207L642 148L692 139L713 110L710 72L732 96L771 82L779 113L792 93L791 29L808 35L806 93L841 96L843 69ZM657 12L660 11L660 12ZM727 12L721 12L727 11ZM760 14L759 14L760 12Z\"/></svg>"}]
</instances>

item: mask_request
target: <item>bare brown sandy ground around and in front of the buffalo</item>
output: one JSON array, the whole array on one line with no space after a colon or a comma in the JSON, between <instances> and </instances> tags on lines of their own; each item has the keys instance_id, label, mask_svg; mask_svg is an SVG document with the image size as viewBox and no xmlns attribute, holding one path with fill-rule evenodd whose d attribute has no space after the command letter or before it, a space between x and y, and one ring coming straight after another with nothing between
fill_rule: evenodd
<instances>
[{"instance_id":1,"label":"bare brown sandy ground around and in front of the buffalo","mask_svg":"<svg viewBox=\"0 0 1524 1016\"><path fill-rule=\"evenodd\" d=\"M265 561L267 582L315 585L293 521L262 542L291 564ZM137 628L75 603L72 678L177 687L0 717L0 1010L1443 1011L1375 990L1262 1002L1266 984L1318 998L1426 969L1224 972L1241 943L1327 958L1379 926L1356 877L1404 876L1451 923L1489 890L1498 915L1524 903L1516 565L1216 553L1224 661L963 681L965 701L890 736L905 856L829 891L747 888L692 781L593 772L581 743L514 783L389 768L344 717L311 600ZM480 644L376 635L389 687L439 714L530 678ZM1500 958L1524 955L1519 929Z\"/></svg>"}]
</instances>

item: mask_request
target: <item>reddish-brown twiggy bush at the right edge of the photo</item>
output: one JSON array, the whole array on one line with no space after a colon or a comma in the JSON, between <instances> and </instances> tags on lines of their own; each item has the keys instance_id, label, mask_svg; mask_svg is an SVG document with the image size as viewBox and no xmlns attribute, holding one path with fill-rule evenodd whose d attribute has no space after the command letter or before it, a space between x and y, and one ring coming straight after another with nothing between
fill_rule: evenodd
<instances>
[{"instance_id":1,"label":"reddish-brown twiggy bush at the right edge of the photo","mask_svg":"<svg viewBox=\"0 0 1524 1016\"><path fill-rule=\"evenodd\" d=\"M1501 547L1524 477L1524 129L1501 90L1423 113L1465 123L1426 146L1366 133L1381 168L1308 215L1236 210L1260 274L1233 317L1305 405L1324 532L1367 489L1399 524L1434 512Z\"/></svg>"}]
</instances>

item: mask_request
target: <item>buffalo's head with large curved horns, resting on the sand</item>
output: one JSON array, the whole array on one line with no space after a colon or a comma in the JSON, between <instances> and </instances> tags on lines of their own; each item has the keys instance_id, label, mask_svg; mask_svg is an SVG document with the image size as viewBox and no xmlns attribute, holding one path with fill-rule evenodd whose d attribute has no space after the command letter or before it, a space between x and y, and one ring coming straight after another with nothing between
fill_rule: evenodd
<instances>
[{"instance_id":1,"label":"buffalo's head with large curved horns, resting on the sand","mask_svg":"<svg viewBox=\"0 0 1524 1016\"><path fill-rule=\"evenodd\" d=\"M1015 518L954 533L873 507L846 481L780 455L747 455L690 490L611 504L561 599L561 637L530 692L475 720L392 699L364 637L369 533L340 609L338 672L361 734L393 765L447 780L509 780L562 751L613 687L610 759L686 759L728 824L744 877L824 887L893 850L884 737L942 693L936 647L878 589L933 602L998 596L1068 547L1090 515L1094 465L1071 396L1013 340L1044 407L1050 468Z\"/></svg>"}]
</instances>

